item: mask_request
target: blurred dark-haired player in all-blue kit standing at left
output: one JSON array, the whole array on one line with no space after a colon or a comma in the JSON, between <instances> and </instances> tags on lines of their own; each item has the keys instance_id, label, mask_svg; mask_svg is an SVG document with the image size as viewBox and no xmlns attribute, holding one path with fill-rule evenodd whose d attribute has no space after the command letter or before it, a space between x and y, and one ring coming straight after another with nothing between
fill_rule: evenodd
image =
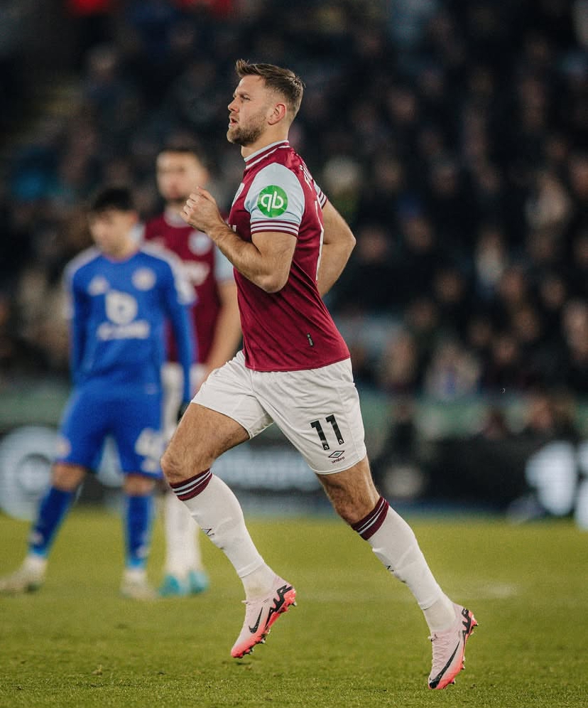
<instances>
[{"instance_id":1,"label":"blurred dark-haired player in all-blue kit standing at left","mask_svg":"<svg viewBox=\"0 0 588 708\"><path fill-rule=\"evenodd\" d=\"M138 215L131 193L106 188L89 209L96 247L68 264L72 305L71 370L75 388L65 409L48 492L40 502L28 554L0 591L37 589L50 547L85 473L96 468L107 435L114 437L124 472L126 562L121 592L152 599L146 578L153 487L161 476L161 367L165 323L173 324L185 372L180 403L190 401L193 293L173 254L144 246L134 235ZM178 406L179 407L179 406Z\"/></svg>"}]
</instances>

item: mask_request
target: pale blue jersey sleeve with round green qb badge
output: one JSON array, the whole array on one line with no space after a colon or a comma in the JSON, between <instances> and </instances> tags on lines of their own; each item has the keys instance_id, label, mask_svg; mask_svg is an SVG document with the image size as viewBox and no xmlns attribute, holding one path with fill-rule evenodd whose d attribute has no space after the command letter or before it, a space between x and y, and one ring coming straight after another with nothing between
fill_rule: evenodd
<instances>
[{"instance_id":1,"label":"pale blue jersey sleeve with round green qb badge","mask_svg":"<svg viewBox=\"0 0 588 708\"><path fill-rule=\"evenodd\" d=\"M304 213L304 192L293 172L273 163L259 171L245 198L251 214L251 236L280 231L298 237Z\"/></svg>"}]
</instances>

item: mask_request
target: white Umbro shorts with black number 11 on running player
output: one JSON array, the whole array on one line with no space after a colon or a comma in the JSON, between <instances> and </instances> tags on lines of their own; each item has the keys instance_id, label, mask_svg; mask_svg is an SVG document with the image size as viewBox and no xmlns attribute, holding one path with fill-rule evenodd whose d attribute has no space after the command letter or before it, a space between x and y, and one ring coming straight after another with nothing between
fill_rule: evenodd
<instances>
[{"instance_id":1,"label":"white Umbro shorts with black number 11 on running player","mask_svg":"<svg viewBox=\"0 0 588 708\"><path fill-rule=\"evenodd\" d=\"M239 351L192 401L232 418L250 438L275 422L317 474L349 469L366 456L349 359L319 369L254 371Z\"/></svg>"}]
</instances>

